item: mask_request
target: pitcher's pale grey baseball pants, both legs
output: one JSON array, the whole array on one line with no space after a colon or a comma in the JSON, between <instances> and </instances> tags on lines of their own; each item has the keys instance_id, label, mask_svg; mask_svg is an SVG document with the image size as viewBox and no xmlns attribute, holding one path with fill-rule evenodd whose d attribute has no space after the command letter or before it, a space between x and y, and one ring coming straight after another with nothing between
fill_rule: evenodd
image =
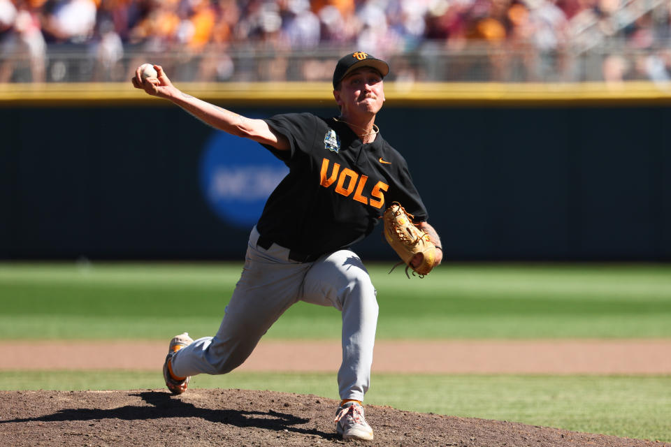
<instances>
[{"instance_id":1,"label":"pitcher's pale grey baseball pants, both legs","mask_svg":"<svg viewBox=\"0 0 671 447\"><path fill-rule=\"evenodd\" d=\"M376 291L368 271L353 251L326 254L312 263L291 261L289 249L257 247L250 235L245 267L224 319L214 337L197 339L173 357L177 376L226 374L242 365L277 318L300 301L333 306L342 312L341 399L363 400L377 326Z\"/></svg>"}]
</instances>

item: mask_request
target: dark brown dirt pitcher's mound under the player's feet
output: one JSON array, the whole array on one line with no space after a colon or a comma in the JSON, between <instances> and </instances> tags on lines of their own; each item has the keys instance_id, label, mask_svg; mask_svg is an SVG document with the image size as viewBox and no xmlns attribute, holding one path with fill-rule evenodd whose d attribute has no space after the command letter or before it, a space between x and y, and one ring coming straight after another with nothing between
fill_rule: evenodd
<instances>
[{"instance_id":1,"label":"dark brown dirt pitcher's mound under the player's feet","mask_svg":"<svg viewBox=\"0 0 671 447\"><path fill-rule=\"evenodd\" d=\"M505 421L366 406L375 441L334 433L336 402L245 390L0 391L2 444L27 446L671 447Z\"/></svg>"}]
</instances>

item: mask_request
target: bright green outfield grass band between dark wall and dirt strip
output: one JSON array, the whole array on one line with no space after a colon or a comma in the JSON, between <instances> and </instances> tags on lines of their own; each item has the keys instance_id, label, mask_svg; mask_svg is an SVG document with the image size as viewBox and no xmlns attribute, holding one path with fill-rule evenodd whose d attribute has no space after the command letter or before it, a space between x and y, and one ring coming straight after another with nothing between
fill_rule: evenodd
<instances>
[{"instance_id":1,"label":"bright green outfield grass band between dark wall and dirt strip","mask_svg":"<svg viewBox=\"0 0 671 447\"><path fill-rule=\"evenodd\" d=\"M0 337L211 335L240 270L0 264ZM443 265L424 279L388 271L370 268L380 339L671 337L671 265ZM267 337L338 338L340 314L298 303Z\"/></svg>"}]
</instances>

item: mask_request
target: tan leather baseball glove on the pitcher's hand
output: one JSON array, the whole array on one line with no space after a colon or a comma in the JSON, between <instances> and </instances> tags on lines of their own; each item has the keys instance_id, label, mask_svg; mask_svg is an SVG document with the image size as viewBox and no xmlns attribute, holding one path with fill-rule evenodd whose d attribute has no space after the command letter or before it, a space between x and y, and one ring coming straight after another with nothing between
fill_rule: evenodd
<instances>
[{"instance_id":1,"label":"tan leather baseball glove on the pitcher's hand","mask_svg":"<svg viewBox=\"0 0 671 447\"><path fill-rule=\"evenodd\" d=\"M423 278L424 275L433 269L435 263L435 245L424 231L412 223L413 218L412 214L405 212L400 203L391 203L382 216L382 219L384 219L384 238L387 239L391 248L401 257L403 263L407 265L405 267L407 277L410 277L407 274L407 269L412 268L414 272L419 274L420 278ZM423 255L421 263L413 267L410 261L418 253ZM396 268L396 265L394 265L394 268ZM394 270L394 268L391 270ZM412 273L413 275L414 272Z\"/></svg>"}]
</instances>

